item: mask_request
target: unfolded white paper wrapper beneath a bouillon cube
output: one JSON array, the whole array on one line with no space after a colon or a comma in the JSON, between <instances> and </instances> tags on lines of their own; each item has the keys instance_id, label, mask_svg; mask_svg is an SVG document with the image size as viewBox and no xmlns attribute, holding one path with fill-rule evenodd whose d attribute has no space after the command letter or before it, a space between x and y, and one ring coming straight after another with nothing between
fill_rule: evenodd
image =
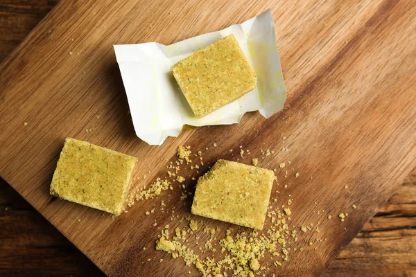
<instances>
[{"instance_id":1,"label":"unfolded white paper wrapper beneath a bouillon cube","mask_svg":"<svg viewBox=\"0 0 416 277\"><path fill-rule=\"evenodd\" d=\"M200 48L231 34L239 41L257 74L257 87L204 118L196 118L170 68ZM270 10L243 24L168 46L157 42L114 45L114 51L136 134L150 145L162 145L168 136L177 136L184 124L239 123L243 114L257 110L268 118L283 109L286 101L275 24Z\"/></svg>"}]
</instances>

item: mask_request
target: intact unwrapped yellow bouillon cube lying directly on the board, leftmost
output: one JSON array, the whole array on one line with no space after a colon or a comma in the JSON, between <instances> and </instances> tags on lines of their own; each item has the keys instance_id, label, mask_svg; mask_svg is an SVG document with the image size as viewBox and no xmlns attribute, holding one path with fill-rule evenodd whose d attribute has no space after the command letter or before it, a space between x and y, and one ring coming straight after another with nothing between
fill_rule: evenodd
<instances>
[{"instance_id":1,"label":"intact unwrapped yellow bouillon cube lying directly on the board, leftmost","mask_svg":"<svg viewBox=\"0 0 416 277\"><path fill-rule=\"evenodd\" d=\"M53 174L51 195L120 215L136 163L135 157L67 138Z\"/></svg>"}]
</instances>

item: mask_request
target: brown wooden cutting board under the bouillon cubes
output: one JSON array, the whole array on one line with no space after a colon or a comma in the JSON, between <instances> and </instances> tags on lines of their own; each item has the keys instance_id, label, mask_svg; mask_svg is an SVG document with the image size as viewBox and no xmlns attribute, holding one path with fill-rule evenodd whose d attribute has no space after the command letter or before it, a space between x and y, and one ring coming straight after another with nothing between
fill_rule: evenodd
<instances>
[{"instance_id":1,"label":"brown wooden cutting board under the bouillon cubes","mask_svg":"<svg viewBox=\"0 0 416 277\"><path fill-rule=\"evenodd\" d=\"M113 44L171 44L267 8L288 89L283 111L187 129L160 147L135 136ZM203 151L198 173L181 171L189 190L191 176L216 159L259 158L260 166L277 168L272 205L293 199L290 225L320 229L300 235L282 267L265 258L266 276L319 275L416 166L415 14L412 1L61 1L1 65L0 175L105 274L194 276L195 268L154 249L161 227L189 215L191 197L181 202L184 190L173 183L116 219L55 199L49 184L64 138L139 158L136 187L165 177L178 145ZM251 154L239 157L240 145ZM267 149L274 153L262 155ZM177 220L166 212L172 208ZM349 213L345 222L340 213ZM204 226L219 226L220 234L232 226L203 222L201 237ZM309 246L315 238L322 242Z\"/></svg>"}]
</instances>

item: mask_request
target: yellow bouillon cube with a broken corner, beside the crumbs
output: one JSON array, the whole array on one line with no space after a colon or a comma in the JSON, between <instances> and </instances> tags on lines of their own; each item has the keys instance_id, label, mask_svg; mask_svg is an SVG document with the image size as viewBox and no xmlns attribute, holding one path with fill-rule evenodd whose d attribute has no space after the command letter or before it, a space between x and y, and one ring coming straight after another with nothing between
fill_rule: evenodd
<instances>
[{"instance_id":1,"label":"yellow bouillon cube with a broken corner, beside the crumbs","mask_svg":"<svg viewBox=\"0 0 416 277\"><path fill-rule=\"evenodd\" d=\"M198 179L191 213L261 230L274 179L272 170L220 159Z\"/></svg>"}]
</instances>

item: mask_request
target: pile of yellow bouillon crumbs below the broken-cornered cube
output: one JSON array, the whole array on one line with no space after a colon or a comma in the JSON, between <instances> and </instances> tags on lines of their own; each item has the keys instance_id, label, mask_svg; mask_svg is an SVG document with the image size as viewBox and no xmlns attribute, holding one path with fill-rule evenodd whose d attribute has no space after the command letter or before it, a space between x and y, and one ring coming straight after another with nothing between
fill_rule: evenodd
<instances>
[{"instance_id":1,"label":"pile of yellow bouillon crumbs below the broken-cornered cube","mask_svg":"<svg viewBox=\"0 0 416 277\"><path fill-rule=\"evenodd\" d=\"M243 229L236 231L229 228L223 238L216 238L220 233L217 228L205 227L204 233L209 238L202 241L193 233L198 229L195 220L189 221L189 226L183 229L175 228L171 233L170 226L166 225L156 242L156 249L171 253L173 258L182 258L186 265L194 265L202 276L254 276L273 271L272 268L262 267L261 261L272 259L273 265L279 267L289 260L289 251L293 250L291 242L297 240L297 231L291 230L291 217L279 208L268 208L268 228L264 231ZM193 236L199 246L200 255L187 243ZM218 244L216 244L218 242ZM217 252L218 260L210 258L209 253ZM205 254L205 255L203 255ZM208 254L208 255L207 255ZM205 257L202 257L205 256Z\"/></svg>"}]
</instances>

